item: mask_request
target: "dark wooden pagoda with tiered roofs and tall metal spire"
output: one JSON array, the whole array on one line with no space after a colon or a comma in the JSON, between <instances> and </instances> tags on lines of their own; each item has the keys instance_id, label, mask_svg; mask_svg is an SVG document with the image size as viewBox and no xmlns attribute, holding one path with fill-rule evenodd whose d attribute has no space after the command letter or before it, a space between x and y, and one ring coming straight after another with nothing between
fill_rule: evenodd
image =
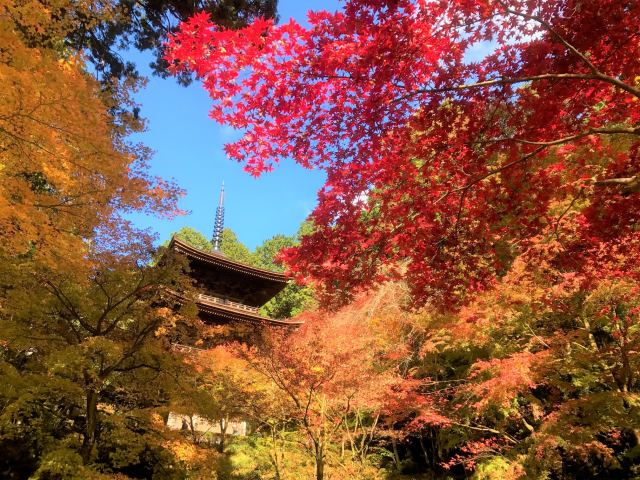
<instances>
[{"instance_id":1,"label":"dark wooden pagoda with tiered roofs and tall metal spire","mask_svg":"<svg viewBox=\"0 0 640 480\"><path fill-rule=\"evenodd\" d=\"M197 291L194 300L202 320L210 324L300 325L302 322L277 320L260 314L260 307L282 291L289 278L283 273L228 258L220 249L223 229L224 183L216 210L213 250L195 248L175 236L169 243L170 249L188 259L189 276L194 280Z\"/></svg>"}]
</instances>

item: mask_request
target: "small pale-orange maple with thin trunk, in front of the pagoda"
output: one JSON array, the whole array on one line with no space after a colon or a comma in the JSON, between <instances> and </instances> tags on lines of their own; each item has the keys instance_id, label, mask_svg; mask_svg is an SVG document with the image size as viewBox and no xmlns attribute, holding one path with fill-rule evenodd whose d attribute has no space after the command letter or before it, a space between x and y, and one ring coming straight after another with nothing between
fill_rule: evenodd
<instances>
[{"instance_id":1,"label":"small pale-orange maple with thin trunk, in front of the pagoda","mask_svg":"<svg viewBox=\"0 0 640 480\"><path fill-rule=\"evenodd\" d=\"M304 432L318 480L325 476L332 443L348 442L354 457L366 455L396 381L377 365L375 336L352 313L346 308L332 315L305 314L299 330L271 331L262 345L242 350L284 395L286 417Z\"/></svg>"}]
</instances>

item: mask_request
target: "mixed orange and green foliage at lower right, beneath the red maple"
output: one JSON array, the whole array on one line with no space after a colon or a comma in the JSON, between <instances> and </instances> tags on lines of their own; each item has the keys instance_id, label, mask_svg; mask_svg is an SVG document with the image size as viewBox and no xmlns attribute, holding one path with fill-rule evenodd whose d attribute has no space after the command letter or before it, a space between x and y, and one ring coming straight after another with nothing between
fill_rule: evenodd
<instances>
[{"instance_id":1,"label":"mixed orange and green foliage at lower right, beneath the red maple","mask_svg":"<svg viewBox=\"0 0 640 480\"><path fill-rule=\"evenodd\" d=\"M603 251L593 267L603 278L594 281L596 272L543 260L557 242L534 243L457 313L409 312L402 287L378 289L371 325L404 377L386 420L406 456L418 452L419 463L450 474L632 476L639 290L624 275L602 275L627 260Z\"/></svg>"}]
</instances>

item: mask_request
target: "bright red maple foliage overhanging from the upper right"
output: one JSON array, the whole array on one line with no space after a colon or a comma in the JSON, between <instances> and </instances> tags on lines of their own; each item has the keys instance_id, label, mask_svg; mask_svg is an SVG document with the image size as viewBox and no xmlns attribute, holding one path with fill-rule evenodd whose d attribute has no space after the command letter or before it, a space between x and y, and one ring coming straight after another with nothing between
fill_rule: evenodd
<instances>
[{"instance_id":1,"label":"bright red maple foliage overhanging from the upper right","mask_svg":"<svg viewBox=\"0 0 640 480\"><path fill-rule=\"evenodd\" d=\"M326 171L294 273L353 294L401 267L417 301L455 304L532 238L572 270L637 251L639 19L635 1L348 0L308 28L196 15L168 60L244 132L226 148L249 172Z\"/></svg>"}]
</instances>

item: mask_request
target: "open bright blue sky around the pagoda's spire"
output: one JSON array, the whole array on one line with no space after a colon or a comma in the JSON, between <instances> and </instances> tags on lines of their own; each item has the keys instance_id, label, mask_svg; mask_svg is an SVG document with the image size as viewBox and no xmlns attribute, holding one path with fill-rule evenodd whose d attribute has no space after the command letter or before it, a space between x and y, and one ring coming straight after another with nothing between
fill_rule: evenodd
<instances>
[{"instance_id":1,"label":"open bright blue sky around the pagoda's spire","mask_svg":"<svg viewBox=\"0 0 640 480\"><path fill-rule=\"evenodd\" d=\"M281 22L291 17L304 22L307 10L337 8L338 0L280 0L278 10ZM278 233L294 234L316 204L323 173L285 160L273 172L251 177L242 165L226 158L223 145L237 134L209 119L210 101L198 83L185 88L173 79L153 77L147 67L150 56L130 52L128 57L149 78L146 88L136 95L148 129L135 140L155 151L154 175L173 178L186 190L180 208L190 211L171 221L143 215L133 216L133 221L157 232L160 242L183 226L209 237L224 180L225 225L249 248Z\"/></svg>"}]
</instances>

